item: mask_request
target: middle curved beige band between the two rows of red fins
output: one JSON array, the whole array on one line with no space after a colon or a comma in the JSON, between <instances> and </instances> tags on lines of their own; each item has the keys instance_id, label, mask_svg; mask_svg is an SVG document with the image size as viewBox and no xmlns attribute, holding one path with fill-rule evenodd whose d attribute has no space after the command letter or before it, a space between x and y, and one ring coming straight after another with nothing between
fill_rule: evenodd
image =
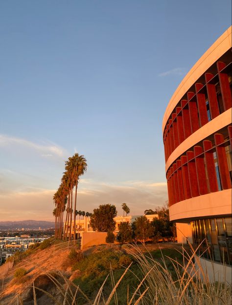
<instances>
[{"instance_id":1,"label":"middle curved beige band between the two rows of red fins","mask_svg":"<svg viewBox=\"0 0 232 305\"><path fill-rule=\"evenodd\" d=\"M224 126L231 124L231 109L226 110L221 113L217 117L215 117L212 121L192 133L185 141L183 141L169 156L167 159L165 170L167 172L169 166L184 152L189 150L194 144L200 142L201 140L208 137L210 134L217 132Z\"/></svg>"}]
</instances>

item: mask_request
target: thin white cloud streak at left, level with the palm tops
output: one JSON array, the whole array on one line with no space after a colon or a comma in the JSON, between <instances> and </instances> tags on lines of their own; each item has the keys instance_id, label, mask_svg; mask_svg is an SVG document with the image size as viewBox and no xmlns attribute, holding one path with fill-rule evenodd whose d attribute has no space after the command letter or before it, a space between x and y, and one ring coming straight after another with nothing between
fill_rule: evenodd
<instances>
[{"instance_id":1,"label":"thin white cloud streak at left, level with the palm tops","mask_svg":"<svg viewBox=\"0 0 232 305\"><path fill-rule=\"evenodd\" d=\"M56 155L62 157L65 154L65 150L54 143L38 144L32 141L28 141L23 138L17 138L5 134L0 134L0 146L20 145L26 148L33 149L37 152L41 152L41 156L48 157Z\"/></svg>"}]
</instances>

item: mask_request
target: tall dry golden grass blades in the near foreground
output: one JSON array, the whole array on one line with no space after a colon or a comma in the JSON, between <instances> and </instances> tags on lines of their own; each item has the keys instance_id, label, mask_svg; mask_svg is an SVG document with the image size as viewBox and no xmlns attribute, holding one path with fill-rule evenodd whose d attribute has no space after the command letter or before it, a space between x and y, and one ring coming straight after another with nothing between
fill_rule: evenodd
<instances>
[{"instance_id":1,"label":"tall dry golden grass blades in the near foreground","mask_svg":"<svg viewBox=\"0 0 232 305\"><path fill-rule=\"evenodd\" d=\"M143 252L137 246L132 246L128 251L138 262L143 278L134 288L133 295L129 297L128 293L127 302L123 305L229 305L232 303L231 285L210 283L208 276L201 268L199 259L195 256L196 250L192 249L192 253L189 254L183 248L183 263L170 258L173 266L172 272L164 257L162 261L156 261L149 252ZM50 299L50 304L78 305L77 296L79 298L81 296L86 305L121 305L117 300L117 292L120 290L120 284L125 274L130 272L130 266L125 268L124 273L116 283L111 269L112 291L108 296L103 295L106 278L94 300L90 300L79 286L70 282L61 272L54 275L46 273L44 270L46 276L56 287L59 298L40 287L36 287L33 283L34 305L39 300L36 299L36 294L39 291L46 294L47 298ZM17 296L17 298L18 304L23 304L20 297Z\"/></svg>"}]
</instances>

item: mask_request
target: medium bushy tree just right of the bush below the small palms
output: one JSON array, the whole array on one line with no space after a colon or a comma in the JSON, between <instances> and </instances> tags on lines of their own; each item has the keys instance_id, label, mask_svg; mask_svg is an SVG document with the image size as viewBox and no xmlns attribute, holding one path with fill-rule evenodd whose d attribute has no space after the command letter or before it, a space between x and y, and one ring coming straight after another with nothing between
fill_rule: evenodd
<instances>
[{"instance_id":1,"label":"medium bushy tree just right of the bush below the small palms","mask_svg":"<svg viewBox=\"0 0 232 305\"><path fill-rule=\"evenodd\" d=\"M143 244L154 235L154 228L145 216L137 217L134 221L134 227L136 239L141 240Z\"/></svg>"}]
</instances>

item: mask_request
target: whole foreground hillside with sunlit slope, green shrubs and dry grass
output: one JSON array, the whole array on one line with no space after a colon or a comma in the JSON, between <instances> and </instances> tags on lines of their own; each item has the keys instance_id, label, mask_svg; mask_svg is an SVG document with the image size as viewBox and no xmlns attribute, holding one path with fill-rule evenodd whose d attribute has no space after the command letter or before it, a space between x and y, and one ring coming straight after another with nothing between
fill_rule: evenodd
<instances>
[{"instance_id":1,"label":"whole foreground hillside with sunlit slope, green shrubs and dry grass","mask_svg":"<svg viewBox=\"0 0 232 305\"><path fill-rule=\"evenodd\" d=\"M49 242L59 241L51 239L45 243ZM0 267L3 288L0 305L222 305L232 302L231 285L206 284L206 278L202 280L196 274L199 269L189 259L188 245L183 249L185 261L180 244L148 244L145 248L109 244L77 251L66 242L42 248L30 250L33 253L19 261L3 279L4 265ZM16 278L15 272L22 271L19 268L25 270L21 278Z\"/></svg>"}]
</instances>

